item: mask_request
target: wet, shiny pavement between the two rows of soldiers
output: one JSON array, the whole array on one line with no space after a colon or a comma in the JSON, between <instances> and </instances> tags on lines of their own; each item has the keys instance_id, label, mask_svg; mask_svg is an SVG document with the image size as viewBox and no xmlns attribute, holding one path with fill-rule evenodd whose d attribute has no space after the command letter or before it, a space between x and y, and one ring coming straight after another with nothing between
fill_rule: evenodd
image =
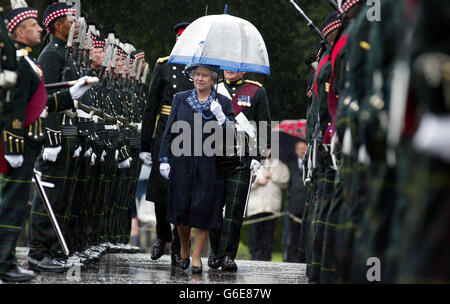
<instances>
[{"instance_id":1,"label":"wet, shiny pavement between the two rows of soldiers","mask_svg":"<svg viewBox=\"0 0 450 304\"><path fill-rule=\"evenodd\" d=\"M19 266L27 269L28 248L17 248ZM41 273L29 284L307 284L306 265L257 261L236 261L238 271L209 269L192 275L191 267L172 267L170 256L157 261L150 254L107 254L97 264L67 273Z\"/></svg>"}]
</instances>

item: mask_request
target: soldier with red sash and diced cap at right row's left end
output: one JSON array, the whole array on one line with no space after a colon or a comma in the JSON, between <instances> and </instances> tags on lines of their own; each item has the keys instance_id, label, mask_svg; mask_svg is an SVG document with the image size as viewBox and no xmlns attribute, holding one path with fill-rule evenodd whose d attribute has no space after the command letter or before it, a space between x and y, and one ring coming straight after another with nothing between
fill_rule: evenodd
<instances>
[{"instance_id":1,"label":"soldier with red sash and diced cap at right row's left end","mask_svg":"<svg viewBox=\"0 0 450 304\"><path fill-rule=\"evenodd\" d=\"M338 12L332 12L326 18L322 26L322 34L327 44L332 48L335 43L337 33L341 27ZM328 213L329 200L333 191L335 171L332 169L330 154L331 135L329 126L331 117L328 112L328 92L329 78L331 74L331 48L325 48L319 58L317 71L313 79L313 101L310 112L315 122L311 127L312 138L310 146L311 153L315 155L315 168L313 164L313 195L309 209L309 219L311 221L308 229L308 268L307 275L310 282L319 281L319 271L323 249L323 239L325 233L325 221ZM313 161L314 163L314 161Z\"/></svg>"}]
</instances>

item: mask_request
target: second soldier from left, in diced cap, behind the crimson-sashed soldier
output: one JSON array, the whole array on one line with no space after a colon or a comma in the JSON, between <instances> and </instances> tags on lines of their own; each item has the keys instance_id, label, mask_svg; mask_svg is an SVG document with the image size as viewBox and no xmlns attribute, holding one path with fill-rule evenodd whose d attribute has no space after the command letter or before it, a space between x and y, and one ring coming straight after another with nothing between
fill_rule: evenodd
<instances>
[{"instance_id":1,"label":"second soldier from left, in diced cap, behind the crimson-sashed soldier","mask_svg":"<svg viewBox=\"0 0 450 304\"><path fill-rule=\"evenodd\" d=\"M44 71L46 83L78 78L73 61L66 58L66 44L71 25L75 22L75 13L76 8L65 2L54 3L44 12L44 28L52 40L39 55L38 62ZM75 161L73 158L77 150L76 122L65 114L55 113L45 120L44 132L47 133L47 141L38 168L42 172L42 179L55 185L54 188L47 189L47 195L63 234L68 235L66 223L72 204L69 188L73 184L73 178L68 181L68 176L74 171L70 168ZM67 243L72 243L70 238L67 239ZM42 200L39 196L35 196L30 219L29 262L34 267L40 268L40 261L53 258L61 260L63 264L66 262ZM73 258L79 261L78 257Z\"/></svg>"}]
</instances>

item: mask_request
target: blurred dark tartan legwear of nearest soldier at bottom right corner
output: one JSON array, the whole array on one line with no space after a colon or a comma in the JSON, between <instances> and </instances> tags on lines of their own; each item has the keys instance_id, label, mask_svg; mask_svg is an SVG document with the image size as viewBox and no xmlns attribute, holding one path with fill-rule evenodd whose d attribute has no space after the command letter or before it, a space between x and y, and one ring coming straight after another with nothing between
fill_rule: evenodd
<instances>
[{"instance_id":1,"label":"blurred dark tartan legwear of nearest soldier at bottom right corner","mask_svg":"<svg viewBox=\"0 0 450 304\"><path fill-rule=\"evenodd\" d=\"M448 162L411 151L403 167L408 198L396 283L450 283Z\"/></svg>"}]
</instances>

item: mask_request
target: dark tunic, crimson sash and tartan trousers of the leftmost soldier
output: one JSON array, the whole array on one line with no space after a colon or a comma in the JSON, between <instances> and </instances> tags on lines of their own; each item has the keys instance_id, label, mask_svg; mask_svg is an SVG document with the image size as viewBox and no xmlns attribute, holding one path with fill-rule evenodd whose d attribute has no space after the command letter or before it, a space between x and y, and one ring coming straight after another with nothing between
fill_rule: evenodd
<instances>
[{"instance_id":1,"label":"dark tunic, crimson sash and tartan trousers of the leftmost soldier","mask_svg":"<svg viewBox=\"0 0 450 304\"><path fill-rule=\"evenodd\" d=\"M8 172L0 176L2 273L16 265L14 250L28 211L34 162L46 138L39 116L45 108L64 110L73 106L68 91L47 95L43 86L43 72L34 59L28 56L31 49L19 42L17 46L21 49L17 51L18 82L11 89L14 107L5 119L1 140L2 150L6 155L23 155L24 161L22 167L16 169L6 164Z\"/></svg>"}]
</instances>

